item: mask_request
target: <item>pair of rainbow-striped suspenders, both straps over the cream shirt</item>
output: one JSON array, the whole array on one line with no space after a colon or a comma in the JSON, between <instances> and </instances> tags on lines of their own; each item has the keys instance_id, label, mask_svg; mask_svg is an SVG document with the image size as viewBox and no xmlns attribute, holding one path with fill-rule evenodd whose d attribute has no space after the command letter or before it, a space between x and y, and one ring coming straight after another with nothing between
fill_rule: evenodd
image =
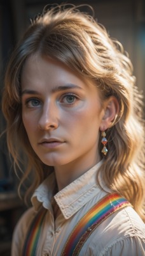
<instances>
[{"instance_id":1,"label":"pair of rainbow-striped suspenders, both straps over the cream shirt","mask_svg":"<svg viewBox=\"0 0 145 256\"><path fill-rule=\"evenodd\" d=\"M104 196L96 205L92 207L85 216L79 220L76 227L71 232L64 246L62 256L79 255L79 252L86 239L93 230L106 220L113 212L127 206L132 206L125 198L113 193ZM45 218L46 210L42 209L34 218L25 239L22 256L36 256L37 244Z\"/></svg>"}]
</instances>

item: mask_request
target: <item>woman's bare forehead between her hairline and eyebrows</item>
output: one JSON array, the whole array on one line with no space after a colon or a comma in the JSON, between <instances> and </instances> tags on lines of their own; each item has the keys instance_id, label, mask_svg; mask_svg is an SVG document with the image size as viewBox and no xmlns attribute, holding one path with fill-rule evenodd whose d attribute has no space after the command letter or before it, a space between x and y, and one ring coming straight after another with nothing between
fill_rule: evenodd
<instances>
[{"instance_id":1,"label":"woman's bare forehead between her hairline and eyebrows","mask_svg":"<svg viewBox=\"0 0 145 256\"><path fill-rule=\"evenodd\" d=\"M43 88L44 86L53 88L55 86L66 86L66 84L75 84L83 90L100 96L94 81L81 76L59 60L35 54L25 61L21 76L22 89L29 87Z\"/></svg>"}]
</instances>

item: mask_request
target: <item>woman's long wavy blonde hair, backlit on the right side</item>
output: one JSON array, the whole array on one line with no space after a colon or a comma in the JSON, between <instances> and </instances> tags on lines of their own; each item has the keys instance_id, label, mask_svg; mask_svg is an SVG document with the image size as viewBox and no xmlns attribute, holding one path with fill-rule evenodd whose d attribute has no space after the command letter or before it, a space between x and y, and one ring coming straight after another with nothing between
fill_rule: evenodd
<instances>
[{"instance_id":1,"label":"woman's long wavy blonde hair, backlit on the right side","mask_svg":"<svg viewBox=\"0 0 145 256\"><path fill-rule=\"evenodd\" d=\"M22 122L22 68L25 60L37 52L62 61L81 76L92 79L103 99L111 95L118 99L120 113L107 130L108 154L100 172L107 186L125 196L143 219L142 99L135 86L132 63L122 45L111 39L91 15L80 12L79 7L65 4L45 9L15 47L6 70L3 93L8 148L15 170L22 172L20 187L28 178L32 180L31 173L35 175L26 198L52 168L45 166L32 150Z\"/></svg>"}]
</instances>

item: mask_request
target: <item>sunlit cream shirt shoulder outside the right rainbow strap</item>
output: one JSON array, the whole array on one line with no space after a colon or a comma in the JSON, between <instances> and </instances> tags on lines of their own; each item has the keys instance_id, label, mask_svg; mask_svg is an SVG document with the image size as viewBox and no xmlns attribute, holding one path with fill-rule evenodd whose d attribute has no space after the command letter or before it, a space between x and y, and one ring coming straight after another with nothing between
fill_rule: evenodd
<instances>
[{"instance_id":1,"label":"sunlit cream shirt shoulder outside the right rainbow strap","mask_svg":"<svg viewBox=\"0 0 145 256\"><path fill-rule=\"evenodd\" d=\"M103 221L87 245L88 255L145 256L145 225L132 207L125 207Z\"/></svg>"}]
</instances>

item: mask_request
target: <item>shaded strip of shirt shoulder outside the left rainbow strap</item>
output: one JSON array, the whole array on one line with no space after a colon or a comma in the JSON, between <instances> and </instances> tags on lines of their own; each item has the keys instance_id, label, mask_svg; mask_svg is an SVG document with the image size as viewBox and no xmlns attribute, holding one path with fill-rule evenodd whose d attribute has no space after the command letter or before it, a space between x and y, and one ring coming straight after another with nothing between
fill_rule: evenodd
<instances>
[{"instance_id":1,"label":"shaded strip of shirt shoulder outside the left rainbow strap","mask_svg":"<svg viewBox=\"0 0 145 256\"><path fill-rule=\"evenodd\" d=\"M22 214L20 220L15 227L12 238L12 246L11 246L11 255L17 256L20 255L20 248L22 248L22 243L25 239L25 235L27 234L27 228L29 227L32 218L34 218L34 208L31 207L27 211Z\"/></svg>"}]
</instances>

